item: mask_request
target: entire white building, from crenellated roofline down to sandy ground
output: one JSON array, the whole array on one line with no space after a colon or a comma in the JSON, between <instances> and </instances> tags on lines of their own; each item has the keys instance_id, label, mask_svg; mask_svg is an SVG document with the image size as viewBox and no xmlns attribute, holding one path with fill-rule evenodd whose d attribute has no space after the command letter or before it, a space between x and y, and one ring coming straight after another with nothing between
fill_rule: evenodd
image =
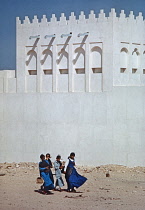
<instances>
[{"instance_id":1,"label":"entire white building, from crenellated roofline down to sandy ground","mask_svg":"<svg viewBox=\"0 0 145 210\"><path fill-rule=\"evenodd\" d=\"M1 162L75 151L79 164L145 166L142 14L62 13L16 27L16 71L0 72Z\"/></svg>"}]
</instances>

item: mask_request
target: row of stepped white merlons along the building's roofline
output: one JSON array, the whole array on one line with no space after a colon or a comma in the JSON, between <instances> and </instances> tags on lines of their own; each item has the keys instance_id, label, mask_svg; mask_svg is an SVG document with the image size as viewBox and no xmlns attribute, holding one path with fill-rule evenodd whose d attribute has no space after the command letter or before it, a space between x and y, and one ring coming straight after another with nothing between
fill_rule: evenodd
<instances>
[{"instance_id":1,"label":"row of stepped white merlons along the building's roofline","mask_svg":"<svg viewBox=\"0 0 145 210\"><path fill-rule=\"evenodd\" d=\"M30 21L28 16L25 16L25 19L22 21L20 20L19 17L16 18L16 23L17 25L48 25L48 24L56 24L56 25L68 25L69 22L73 22L76 24L79 24L80 22L84 23L90 23L91 21L110 21L112 19L115 19L116 21L121 21L121 20L134 20L136 22L143 22L145 19L143 18L142 12L139 12L138 16L134 16L133 11L130 11L129 16L127 17L126 14L124 13L124 10L121 10L119 17L117 17L117 14L115 12L115 9L112 8L109 16L107 17L104 10L101 9L100 13L98 14L98 17L96 17L96 14L94 13L93 10L90 11L89 18L86 18L85 14L83 11L80 12L79 18L77 19L74 12L71 12L71 15L67 19L64 13L61 13L61 16L59 19L56 18L55 14L52 14L52 17L50 20L46 18L46 15L43 15L41 21L38 20L37 16L35 15L34 18Z\"/></svg>"}]
</instances>

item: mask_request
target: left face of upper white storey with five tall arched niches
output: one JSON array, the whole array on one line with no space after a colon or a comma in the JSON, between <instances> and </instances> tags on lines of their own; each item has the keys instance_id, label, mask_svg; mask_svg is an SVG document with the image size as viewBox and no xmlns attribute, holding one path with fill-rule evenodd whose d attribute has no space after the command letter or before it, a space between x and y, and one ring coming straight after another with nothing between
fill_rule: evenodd
<instances>
[{"instance_id":1,"label":"left face of upper white storey with five tall arched niches","mask_svg":"<svg viewBox=\"0 0 145 210\"><path fill-rule=\"evenodd\" d=\"M37 67L37 92L50 92L44 83L47 75L44 75L43 69L50 69L52 66L52 92L100 92L102 90L111 90L113 83L112 71L112 23L113 18L105 17L105 13L101 10L99 18L95 17L93 11L86 19L83 12L81 12L77 20L73 13L66 20L64 14L61 14L60 20L57 20L55 15L52 15L50 21L46 16L43 16L41 22L38 22L35 16L30 23L28 17L25 17L23 23L17 18L17 92L33 92L29 86L28 68ZM106 34L106 30L109 32ZM89 32L88 35L78 36L80 33ZM70 34L71 37L62 34ZM53 35L55 37L47 37L46 35ZM39 38L31 38L39 35ZM102 44L103 43L103 44ZM109 43L109 44L108 44ZM92 49L99 48L101 54L93 56ZM43 53L45 50L52 52L52 61L46 60L43 64ZM109 53L108 53L108 52ZM30 64L26 65L28 52L36 52L37 57L31 55ZM94 54L97 51L94 51ZM98 55L99 54L99 55ZM92 58L97 58L93 61ZM103 57L103 62L102 62ZM36 61L37 65L36 65ZM105 76L108 72L108 61L110 62L109 79ZM50 64L52 62L52 65ZM34 65L35 64L35 65ZM92 68L102 67L103 71L99 74L104 76L96 76ZM34 68L35 69L35 68ZM61 69L68 69L68 75L61 75ZM81 74L76 72L76 69L84 69ZM94 74L94 78L91 78ZM35 76L34 76L35 77ZM92 83L91 83L92 80ZM28 82L27 82L28 81ZM97 84L96 84L97 82Z\"/></svg>"}]
</instances>

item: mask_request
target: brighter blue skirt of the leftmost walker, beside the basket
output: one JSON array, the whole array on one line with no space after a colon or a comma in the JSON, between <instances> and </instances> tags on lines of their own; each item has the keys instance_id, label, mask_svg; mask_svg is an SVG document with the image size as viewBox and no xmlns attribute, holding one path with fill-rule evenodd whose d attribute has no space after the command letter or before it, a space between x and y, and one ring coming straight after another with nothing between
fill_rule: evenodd
<instances>
[{"instance_id":1,"label":"brighter blue skirt of the leftmost walker, beside the basket","mask_svg":"<svg viewBox=\"0 0 145 210\"><path fill-rule=\"evenodd\" d=\"M50 179L49 173L48 172L41 172L41 177L44 180L44 190L52 190L54 189L54 185Z\"/></svg>"}]
</instances>

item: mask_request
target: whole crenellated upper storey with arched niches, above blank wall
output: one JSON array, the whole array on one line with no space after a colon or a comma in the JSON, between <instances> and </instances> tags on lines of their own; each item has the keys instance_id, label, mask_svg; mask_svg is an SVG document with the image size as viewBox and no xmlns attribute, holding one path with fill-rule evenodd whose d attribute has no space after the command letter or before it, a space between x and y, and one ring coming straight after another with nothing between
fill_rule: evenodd
<instances>
[{"instance_id":1,"label":"whole crenellated upper storey with arched niches, above blank wall","mask_svg":"<svg viewBox=\"0 0 145 210\"><path fill-rule=\"evenodd\" d=\"M93 10L41 20L17 18L18 92L102 92L145 85L145 20L140 12Z\"/></svg>"}]
</instances>

